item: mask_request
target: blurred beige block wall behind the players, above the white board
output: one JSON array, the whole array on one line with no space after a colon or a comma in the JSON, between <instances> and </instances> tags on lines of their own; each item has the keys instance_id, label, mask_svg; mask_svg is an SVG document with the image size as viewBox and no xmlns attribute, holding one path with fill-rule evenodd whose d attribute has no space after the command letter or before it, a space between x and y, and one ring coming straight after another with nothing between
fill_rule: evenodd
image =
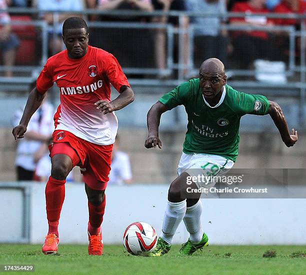
<instances>
[{"instance_id":1,"label":"blurred beige block wall behind the players, above the white board","mask_svg":"<svg viewBox=\"0 0 306 275\"><path fill-rule=\"evenodd\" d=\"M255 116L254 116L255 117ZM273 127L274 128L274 127ZM304 168L306 167L306 135L298 132L298 142L287 148L279 133L271 129L240 134L239 156L235 168ZM176 176L185 130L161 130L162 149L144 148L147 130L120 128L120 149L127 152L134 183L170 183ZM0 128L0 181L16 180L16 142L11 128ZM74 173L79 178L79 172Z\"/></svg>"}]
</instances>

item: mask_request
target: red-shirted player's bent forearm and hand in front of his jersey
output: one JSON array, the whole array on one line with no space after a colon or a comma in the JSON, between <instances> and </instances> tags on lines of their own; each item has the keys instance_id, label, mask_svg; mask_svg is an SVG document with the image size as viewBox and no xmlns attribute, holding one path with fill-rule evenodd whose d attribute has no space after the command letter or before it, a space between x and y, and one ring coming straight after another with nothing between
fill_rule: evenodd
<instances>
[{"instance_id":1,"label":"red-shirted player's bent forearm and hand in front of his jersey","mask_svg":"<svg viewBox=\"0 0 306 275\"><path fill-rule=\"evenodd\" d=\"M114 100L108 102L106 100L98 100L94 104L97 105L97 109L101 113L106 114L108 112L116 111L122 109L129 103L133 102L135 99L134 92L131 87L121 86L120 94Z\"/></svg>"}]
</instances>

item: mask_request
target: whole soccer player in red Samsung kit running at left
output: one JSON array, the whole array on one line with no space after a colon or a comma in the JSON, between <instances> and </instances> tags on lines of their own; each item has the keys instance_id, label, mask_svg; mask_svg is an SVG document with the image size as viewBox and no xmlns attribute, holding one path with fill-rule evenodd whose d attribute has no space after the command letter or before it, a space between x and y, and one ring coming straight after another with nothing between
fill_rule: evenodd
<instances>
[{"instance_id":1,"label":"whole soccer player in red Samsung kit running at left","mask_svg":"<svg viewBox=\"0 0 306 275\"><path fill-rule=\"evenodd\" d=\"M88 254L101 255L104 190L118 122L113 111L131 103L134 93L116 58L88 45L88 27L83 19L66 19L62 39L66 50L46 61L36 87L28 96L20 123L12 133L15 140L24 136L30 117L41 104L46 90L56 82L60 105L54 115L55 130L49 145L52 168L45 187L49 229L42 252L57 252L57 226L65 196L65 179L78 165L88 198ZM110 83L120 93L112 101Z\"/></svg>"}]
</instances>

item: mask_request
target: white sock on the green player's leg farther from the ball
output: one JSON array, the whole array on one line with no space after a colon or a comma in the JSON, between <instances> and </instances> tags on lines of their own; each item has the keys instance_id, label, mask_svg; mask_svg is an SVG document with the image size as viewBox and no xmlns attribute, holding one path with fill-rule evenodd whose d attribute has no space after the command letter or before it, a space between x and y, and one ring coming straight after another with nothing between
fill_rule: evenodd
<instances>
[{"instance_id":1,"label":"white sock on the green player's leg farther from the ball","mask_svg":"<svg viewBox=\"0 0 306 275\"><path fill-rule=\"evenodd\" d=\"M199 199L194 205L187 207L183 221L189 232L189 239L192 242L199 242L203 236L201 226L202 202Z\"/></svg>"}]
</instances>

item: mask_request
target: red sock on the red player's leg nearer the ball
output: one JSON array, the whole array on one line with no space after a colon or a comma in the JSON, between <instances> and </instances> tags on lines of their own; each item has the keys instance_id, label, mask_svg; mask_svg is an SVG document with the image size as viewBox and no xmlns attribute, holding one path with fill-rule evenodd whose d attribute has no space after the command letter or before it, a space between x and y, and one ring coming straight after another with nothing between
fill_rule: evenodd
<instances>
[{"instance_id":1,"label":"red sock on the red player's leg nearer the ball","mask_svg":"<svg viewBox=\"0 0 306 275\"><path fill-rule=\"evenodd\" d=\"M103 214L105 210L106 197L104 194L104 199L99 205L93 205L88 201L88 211L89 211L89 222L88 222L88 232L90 235L96 235L100 231L100 226L103 220Z\"/></svg>"}]
</instances>

